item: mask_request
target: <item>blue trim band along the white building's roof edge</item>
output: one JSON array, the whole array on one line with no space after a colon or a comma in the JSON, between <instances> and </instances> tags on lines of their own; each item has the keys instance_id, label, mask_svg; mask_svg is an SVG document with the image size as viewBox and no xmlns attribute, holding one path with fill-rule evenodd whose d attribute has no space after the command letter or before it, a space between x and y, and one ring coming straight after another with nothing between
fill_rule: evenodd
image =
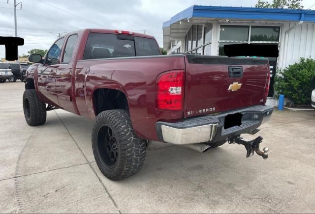
<instances>
[{"instance_id":1,"label":"blue trim band along the white building's roof edge","mask_svg":"<svg viewBox=\"0 0 315 214\"><path fill-rule=\"evenodd\" d=\"M193 5L164 22L163 27L191 17L315 22L315 10Z\"/></svg>"}]
</instances>

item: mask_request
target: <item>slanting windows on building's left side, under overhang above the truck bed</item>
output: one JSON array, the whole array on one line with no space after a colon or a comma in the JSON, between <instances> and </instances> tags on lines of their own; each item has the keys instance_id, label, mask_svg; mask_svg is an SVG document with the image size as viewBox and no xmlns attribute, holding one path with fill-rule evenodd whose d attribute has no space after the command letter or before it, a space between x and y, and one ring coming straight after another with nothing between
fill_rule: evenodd
<instances>
[{"instance_id":1,"label":"slanting windows on building's left side, under overhang above the truck bed","mask_svg":"<svg viewBox=\"0 0 315 214\"><path fill-rule=\"evenodd\" d=\"M204 29L205 35L202 35L203 27L204 25L192 25L190 27L185 36L186 54L201 55L204 50L206 50L207 55L211 54L212 24L206 25Z\"/></svg>"}]
</instances>

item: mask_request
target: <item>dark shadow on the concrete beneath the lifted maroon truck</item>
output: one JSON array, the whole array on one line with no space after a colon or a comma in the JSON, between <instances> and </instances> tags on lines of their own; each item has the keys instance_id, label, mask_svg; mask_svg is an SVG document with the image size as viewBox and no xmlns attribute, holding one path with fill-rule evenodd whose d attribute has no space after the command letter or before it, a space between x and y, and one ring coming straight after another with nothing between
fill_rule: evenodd
<instances>
[{"instance_id":1,"label":"dark shadow on the concrete beneath the lifted maroon truck","mask_svg":"<svg viewBox=\"0 0 315 214\"><path fill-rule=\"evenodd\" d=\"M90 148L89 150L81 148L83 153L87 157L93 157L91 130L94 121L68 113L59 114L59 117L73 138L79 139L81 142L81 144L78 143L79 146ZM58 120L59 118L57 117L47 122L55 125L55 123L60 123ZM148 179L153 174L156 174L155 179L158 179L160 175L169 178L174 178L175 175L182 178L191 176L196 176L197 178L199 174L206 177L218 176L217 178L220 179L220 174L224 173L224 170L230 173L235 171L237 174L239 174L240 170L246 171L250 169L256 171L255 166L259 166L262 161L261 158L258 156L252 157L251 160L254 160L255 163L251 166L248 163L252 164L252 161L246 159L245 156L246 150L241 145L228 145L226 143L219 148L199 153L184 146L153 141L150 150L147 151L146 162L141 171L118 183L136 182L138 179L142 180L141 177ZM239 162L244 164L239 164ZM247 178L255 176L252 173L245 174Z\"/></svg>"}]
</instances>

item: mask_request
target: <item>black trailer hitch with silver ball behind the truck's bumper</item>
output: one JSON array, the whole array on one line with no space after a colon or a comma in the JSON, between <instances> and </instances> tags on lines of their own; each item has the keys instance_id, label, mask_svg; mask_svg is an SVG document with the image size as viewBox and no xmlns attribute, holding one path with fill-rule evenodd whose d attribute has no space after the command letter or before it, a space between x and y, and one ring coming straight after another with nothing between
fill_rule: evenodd
<instances>
[{"instance_id":1,"label":"black trailer hitch with silver ball behind the truck's bumper","mask_svg":"<svg viewBox=\"0 0 315 214\"><path fill-rule=\"evenodd\" d=\"M245 149L247 151L246 158L249 158L249 157L253 156L254 152L256 152L257 155L261 156L264 160L266 160L266 159L268 159L268 151L269 151L269 149L268 148L264 148L263 151L260 151L259 144L262 142L262 139L263 139L262 136L258 136L258 137L256 137L253 140L245 141L245 140L243 140L242 137L240 137L238 135L238 136L230 137L228 139L228 143L229 144L237 143L237 144L244 145Z\"/></svg>"}]
</instances>

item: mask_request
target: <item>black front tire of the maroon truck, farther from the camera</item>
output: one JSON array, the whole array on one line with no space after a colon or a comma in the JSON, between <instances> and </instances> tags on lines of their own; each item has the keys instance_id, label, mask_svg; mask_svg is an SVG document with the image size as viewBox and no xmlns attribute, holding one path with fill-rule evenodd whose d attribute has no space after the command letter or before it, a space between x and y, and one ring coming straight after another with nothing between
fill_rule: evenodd
<instances>
[{"instance_id":1,"label":"black front tire of the maroon truck, farther from the camera","mask_svg":"<svg viewBox=\"0 0 315 214\"><path fill-rule=\"evenodd\" d=\"M46 122L46 104L39 100L35 89L24 91L23 110L25 120L30 126L43 125Z\"/></svg>"}]
</instances>

